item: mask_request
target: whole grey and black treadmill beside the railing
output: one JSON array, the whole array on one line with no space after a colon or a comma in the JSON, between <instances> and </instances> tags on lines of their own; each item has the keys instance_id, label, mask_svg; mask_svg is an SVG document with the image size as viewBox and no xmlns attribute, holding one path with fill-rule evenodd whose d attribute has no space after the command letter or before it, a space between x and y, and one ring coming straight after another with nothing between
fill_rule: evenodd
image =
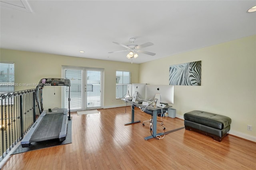
<instances>
[{"instance_id":1,"label":"whole grey and black treadmill beside the railing","mask_svg":"<svg viewBox=\"0 0 256 170\"><path fill-rule=\"evenodd\" d=\"M68 108L69 109L48 109L42 111L39 102L38 92L44 86L68 86ZM70 80L62 78L41 79L36 87L36 100L38 101L40 116L33 126L21 140L22 148L29 147L31 142L59 139L60 142L66 139L68 120L70 118Z\"/></svg>"}]
</instances>

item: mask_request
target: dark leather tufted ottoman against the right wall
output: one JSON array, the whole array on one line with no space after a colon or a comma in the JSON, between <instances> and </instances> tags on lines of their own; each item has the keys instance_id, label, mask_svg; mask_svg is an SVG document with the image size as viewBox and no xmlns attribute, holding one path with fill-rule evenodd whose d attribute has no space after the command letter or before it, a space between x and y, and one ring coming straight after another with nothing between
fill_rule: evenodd
<instances>
[{"instance_id":1,"label":"dark leather tufted ottoman against the right wall","mask_svg":"<svg viewBox=\"0 0 256 170\"><path fill-rule=\"evenodd\" d=\"M226 116L208 113L204 111L190 111L184 114L186 130L196 130L212 136L214 140L221 142L222 138L230 130L231 119Z\"/></svg>"}]
</instances>

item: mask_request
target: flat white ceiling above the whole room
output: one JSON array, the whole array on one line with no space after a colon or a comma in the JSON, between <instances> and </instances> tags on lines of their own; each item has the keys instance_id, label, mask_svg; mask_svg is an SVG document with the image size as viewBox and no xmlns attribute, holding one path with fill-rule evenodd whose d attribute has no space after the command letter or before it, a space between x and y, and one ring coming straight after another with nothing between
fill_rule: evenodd
<instances>
[{"instance_id":1,"label":"flat white ceiling above the whole room","mask_svg":"<svg viewBox=\"0 0 256 170\"><path fill-rule=\"evenodd\" d=\"M12 4L12 8L10 5ZM131 62L124 45L154 43L143 63L256 34L256 0L1 0L0 47ZM84 53L79 51L83 50Z\"/></svg>"}]
</instances>

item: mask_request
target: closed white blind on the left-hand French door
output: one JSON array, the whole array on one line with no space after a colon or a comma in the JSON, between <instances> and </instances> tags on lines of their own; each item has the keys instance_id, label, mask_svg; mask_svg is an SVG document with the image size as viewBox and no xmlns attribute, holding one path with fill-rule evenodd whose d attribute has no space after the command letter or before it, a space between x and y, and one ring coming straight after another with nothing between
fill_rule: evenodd
<instances>
[{"instance_id":1,"label":"closed white blind on the left-hand French door","mask_svg":"<svg viewBox=\"0 0 256 170\"><path fill-rule=\"evenodd\" d=\"M70 110L82 109L82 70L65 69L70 79ZM68 108L68 87L65 87L65 108Z\"/></svg>"}]
</instances>

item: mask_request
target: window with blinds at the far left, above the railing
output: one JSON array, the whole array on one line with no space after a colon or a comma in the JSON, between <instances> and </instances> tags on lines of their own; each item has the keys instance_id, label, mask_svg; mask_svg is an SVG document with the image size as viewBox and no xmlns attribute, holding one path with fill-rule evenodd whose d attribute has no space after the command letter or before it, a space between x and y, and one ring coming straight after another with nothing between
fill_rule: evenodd
<instances>
[{"instance_id":1,"label":"window with blinds at the far left, above the railing","mask_svg":"<svg viewBox=\"0 0 256 170\"><path fill-rule=\"evenodd\" d=\"M14 91L14 63L0 63L0 93Z\"/></svg>"}]
</instances>

